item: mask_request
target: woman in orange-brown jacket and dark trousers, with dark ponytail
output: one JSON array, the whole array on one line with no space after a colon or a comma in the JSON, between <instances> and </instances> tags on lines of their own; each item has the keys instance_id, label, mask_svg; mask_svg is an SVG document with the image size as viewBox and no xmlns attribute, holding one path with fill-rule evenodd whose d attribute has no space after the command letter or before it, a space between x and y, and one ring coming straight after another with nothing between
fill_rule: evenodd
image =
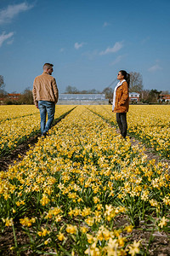
<instances>
[{"instance_id":1,"label":"woman in orange-brown jacket and dark trousers, with dark ponytail","mask_svg":"<svg viewBox=\"0 0 170 256\"><path fill-rule=\"evenodd\" d=\"M113 93L112 111L116 113L116 122L119 125L122 137L127 136L127 112L129 107L128 86L130 75L125 70L119 71L117 75L119 80Z\"/></svg>"}]
</instances>

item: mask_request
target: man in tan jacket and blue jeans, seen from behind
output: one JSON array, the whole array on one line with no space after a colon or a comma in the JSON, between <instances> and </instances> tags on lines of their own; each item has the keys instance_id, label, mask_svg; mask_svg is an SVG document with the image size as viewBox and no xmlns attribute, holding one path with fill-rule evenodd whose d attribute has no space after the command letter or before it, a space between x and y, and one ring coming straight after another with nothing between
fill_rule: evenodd
<instances>
[{"instance_id":1,"label":"man in tan jacket and blue jeans, seen from behind","mask_svg":"<svg viewBox=\"0 0 170 256\"><path fill-rule=\"evenodd\" d=\"M59 92L53 73L53 64L45 63L43 65L43 73L34 79L33 83L33 98L34 103L40 110L41 117L41 131L42 136L47 135L48 130L54 120L55 104L58 102ZM48 113L48 121L46 117Z\"/></svg>"}]
</instances>

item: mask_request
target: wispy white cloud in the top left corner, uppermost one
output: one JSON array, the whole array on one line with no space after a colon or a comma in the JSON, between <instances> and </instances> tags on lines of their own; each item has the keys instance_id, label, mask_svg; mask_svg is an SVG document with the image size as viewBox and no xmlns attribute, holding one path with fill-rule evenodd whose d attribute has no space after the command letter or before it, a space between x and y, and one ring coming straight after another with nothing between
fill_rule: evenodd
<instances>
[{"instance_id":1,"label":"wispy white cloud in the top left corner, uppermost one","mask_svg":"<svg viewBox=\"0 0 170 256\"><path fill-rule=\"evenodd\" d=\"M19 15L21 12L29 10L32 7L33 5L28 5L27 3L8 5L6 9L0 10L0 24L10 22L14 16Z\"/></svg>"}]
</instances>

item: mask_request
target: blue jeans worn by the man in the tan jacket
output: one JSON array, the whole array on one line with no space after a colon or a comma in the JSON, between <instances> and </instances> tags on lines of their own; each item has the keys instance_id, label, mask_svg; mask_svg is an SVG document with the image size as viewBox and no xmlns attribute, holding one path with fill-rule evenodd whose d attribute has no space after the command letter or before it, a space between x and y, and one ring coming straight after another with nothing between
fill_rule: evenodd
<instances>
[{"instance_id":1,"label":"blue jeans worn by the man in the tan jacket","mask_svg":"<svg viewBox=\"0 0 170 256\"><path fill-rule=\"evenodd\" d=\"M53 123L55 113L55 103L48 101L38 101L38 108L40 110L41 117L41 131L47 132ZM46 124L46 117L48 113L48 121Z\"/></svg>"}]
</instances>

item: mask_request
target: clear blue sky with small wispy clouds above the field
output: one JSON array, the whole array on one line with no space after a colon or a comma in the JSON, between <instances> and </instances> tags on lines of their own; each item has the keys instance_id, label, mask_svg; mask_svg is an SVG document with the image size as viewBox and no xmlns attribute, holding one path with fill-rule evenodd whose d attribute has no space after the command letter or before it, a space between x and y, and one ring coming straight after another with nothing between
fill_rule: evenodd
<instances>
[{"instance_id":1,"label":"clear blue sky with small wispy clouds above the field","mask_svg":"<svg viewBox=\"0 0 170 256\"><path fill-rule=\"evenodd\" d=\"M0 0L0 74L8 92L32 89L45 62L59 92L103 90L119 70L144 89L170 90L169 0Z\"/></svg>"}]
</instances>

